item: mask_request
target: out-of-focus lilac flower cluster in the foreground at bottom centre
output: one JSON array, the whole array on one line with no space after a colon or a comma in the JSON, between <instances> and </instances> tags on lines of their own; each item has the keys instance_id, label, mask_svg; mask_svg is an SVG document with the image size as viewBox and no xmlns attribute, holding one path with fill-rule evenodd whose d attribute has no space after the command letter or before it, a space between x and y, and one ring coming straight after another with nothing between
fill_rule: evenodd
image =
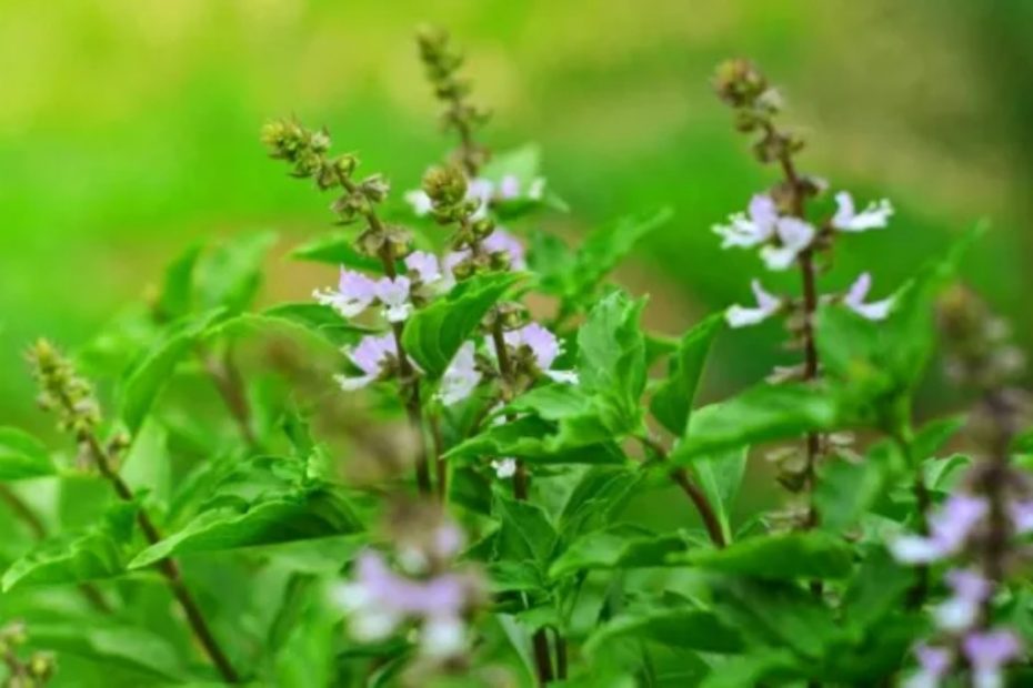
<instances>
[{"instance_id":1,"label":"out-of-focus lilac flower cluster in the foreground at bottom centre","mask_svg":"<svg viewBox=\"0 0 1033 688\"><path fill-rule=\"evenodd\" d=\"M391 520L400 570L383 554L368 549L357 558L352 580L337 587L334 599L348 614L355 640L384 640L412 627L422 657L454 660L469 649L468 620L484 601L477 570L455 564L463 534L440 512L424 507L410 505Z\"/></svg>"}]
</instances>

